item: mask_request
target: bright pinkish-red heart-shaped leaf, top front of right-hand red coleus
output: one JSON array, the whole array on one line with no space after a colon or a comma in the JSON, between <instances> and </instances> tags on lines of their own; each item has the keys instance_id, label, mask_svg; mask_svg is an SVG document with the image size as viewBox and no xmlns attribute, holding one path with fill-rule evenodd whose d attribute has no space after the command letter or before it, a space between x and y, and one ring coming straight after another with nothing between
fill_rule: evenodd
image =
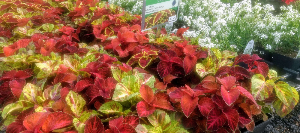
<instances>
[{"instance_id":1,"label":"bright pinkish-red heart-shaped leaf, top front of right-hand red coleus","mask_svg":"<svg viewBox=\"0 0 300 133\"><path fill-rule=\"evenodd\" d=\"M236 99L238 99L238 96L240 95L240 91L236 88L232 88L230 90L226 90L224 86L221 86L221 94L224 98L225 103L230 106Z\"/></svg>"}]
</instances>

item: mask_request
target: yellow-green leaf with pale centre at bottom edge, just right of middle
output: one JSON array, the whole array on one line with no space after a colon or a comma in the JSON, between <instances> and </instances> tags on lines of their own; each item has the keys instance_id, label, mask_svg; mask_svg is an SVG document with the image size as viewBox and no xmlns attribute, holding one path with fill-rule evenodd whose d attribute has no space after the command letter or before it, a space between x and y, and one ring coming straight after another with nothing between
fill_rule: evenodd
<instances>
[{"instance_id":1,"label":"yellow-green leaf with pale centre at bottom edge, just right of middle","mask_svg":"<svg viewBox=\"0 0 300 133\"><path fill-rule=\"evenodd\" d=\"M147 119L154 127L161 127L162 131L166 131L171 125L170 116L163 110L155 110L153 114L147 116Z\"/></svg>"}]
</instances>

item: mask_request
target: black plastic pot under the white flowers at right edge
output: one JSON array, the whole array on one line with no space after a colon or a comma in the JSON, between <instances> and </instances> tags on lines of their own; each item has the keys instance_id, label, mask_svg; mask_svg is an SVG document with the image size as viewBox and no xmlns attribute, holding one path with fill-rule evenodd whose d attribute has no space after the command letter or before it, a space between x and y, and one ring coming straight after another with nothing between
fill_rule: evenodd
<instances>
[{"instance_id":1,"label":"black plastic pot under the white flowers at right edge","mask_svg":"<svg viewBox=\"0 0 300 133\"><path fill-rule=\"evenodd\" d=\"M278 54L278 53L273 53L272 54L273 57L273 63L276 66L279 66L281 68L288 68L291 70L297 70L300 67L300 58L291 58L291 57L287 57L285 55L282 54Z\"/></svg>"}]
</instances>

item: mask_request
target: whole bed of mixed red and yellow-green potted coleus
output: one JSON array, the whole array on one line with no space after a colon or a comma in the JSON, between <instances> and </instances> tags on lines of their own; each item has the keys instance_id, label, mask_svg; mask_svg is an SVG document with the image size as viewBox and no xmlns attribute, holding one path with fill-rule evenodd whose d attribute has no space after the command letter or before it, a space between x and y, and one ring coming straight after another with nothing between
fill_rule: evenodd
<instances>
[{"instance_id":1,"label":"whole bed of mixed red and yellow-green potted coleus","mask_svg":"<svg viewBox=\"0 0 300 133\"><path fill-rule=\"evenodd\" d=\"M155 38L114 4L6 0L0 10L7 133L253 131L299 100L258 55L200 47L188 28Z\"/></svg>"}]
</instances>

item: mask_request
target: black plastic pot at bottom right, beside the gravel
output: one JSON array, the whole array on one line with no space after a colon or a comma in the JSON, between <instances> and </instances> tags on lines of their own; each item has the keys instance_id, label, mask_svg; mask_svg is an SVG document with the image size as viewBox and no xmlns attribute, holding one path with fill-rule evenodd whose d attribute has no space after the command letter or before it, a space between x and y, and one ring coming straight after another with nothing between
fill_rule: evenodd
<instances>
[{"instance_id":1,"label":"black plastic pot at bottom right, beside the gravel","mask_svg":"<svg viewBox=\"0 0 300 133\"><path fill-rule=\"evenodd\" d=\"M262 133L263 131L265 131L265 128L270 123L271 119L274 118L274 116L271 115L270 113L267 113L267 116L269 117L268 120L266 120L266 121L259 120L259 121L255 122L255 127L254 127L253 132L250 132L246 128L243 128L243 129L241 129L241 133Z\"/></svg>"}]
</instances>

